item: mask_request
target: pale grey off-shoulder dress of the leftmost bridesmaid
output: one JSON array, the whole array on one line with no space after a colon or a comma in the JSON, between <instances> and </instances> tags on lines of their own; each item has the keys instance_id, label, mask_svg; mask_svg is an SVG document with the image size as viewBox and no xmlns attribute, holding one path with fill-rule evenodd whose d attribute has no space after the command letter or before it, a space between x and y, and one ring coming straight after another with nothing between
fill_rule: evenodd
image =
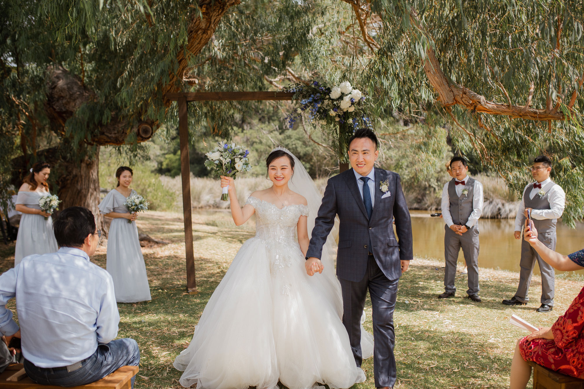
<instances>
[{"instance_id":1,"label":"pale grey off-shoulder dress of the leftmost bridesmaid","mask_svg":"<svg viewBox=\"0 0 584 389\"><path fill-rule=\"evenodd\" d=\"M16 204L40 209L39 200L46 194L50 193L19 190ZM44 216L23 213L22 217L20 217L20 225L16 237L14 266L18 265L25 256L56 252L58 249L57 241L53 234L53 219L49 216L45 220Z\"/></svg>"}]
</instances>

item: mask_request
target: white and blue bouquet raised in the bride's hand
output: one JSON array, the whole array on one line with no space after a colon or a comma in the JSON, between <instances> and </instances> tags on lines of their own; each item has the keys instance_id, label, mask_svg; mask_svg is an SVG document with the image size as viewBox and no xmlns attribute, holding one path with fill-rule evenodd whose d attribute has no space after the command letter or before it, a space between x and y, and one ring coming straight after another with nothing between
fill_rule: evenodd
<instances>
[{"instance_id":1,"label":"white and blue bouquet raised in the bride's hand","mask_svg":"<svg viewBox=\"0 0 584 389\"><path fill-rule=\"evenodd\" d=\"M210 169L215 169L215 175L233 177L239 172L249 172L252 165L249 164L249 150L244 150L243 146L237 146L235 143L227 144L217 142L217 147L205 154L207 161L205 166ZM223 188L221 200L227 201L229 185Z\"/></svg>"}]
</instances>

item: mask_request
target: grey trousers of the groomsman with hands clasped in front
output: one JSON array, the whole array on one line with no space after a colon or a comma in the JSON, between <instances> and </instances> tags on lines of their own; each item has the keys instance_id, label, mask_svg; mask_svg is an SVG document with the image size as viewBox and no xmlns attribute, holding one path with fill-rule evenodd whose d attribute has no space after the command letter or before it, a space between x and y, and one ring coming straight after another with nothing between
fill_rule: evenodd
<instances>
[{"instance_id":1,"label":"grey trousers of the groomsman with hands clasped in front","mask_svg":"<svg viewBox=\"0 0 584 389\"><path fill-rule=\"evenodd\" d=\"M457 235L444 225L444 258L446 258L446 269L444 269L444 290L456 292L454 279L456 277L456 262L458 252L463 249L464 261L468 270L468 290L467 294L477 294L480 290L478 286L478 230L477 225L473 225L470 230L462 235Z\"/></svg>"}]
</instances>

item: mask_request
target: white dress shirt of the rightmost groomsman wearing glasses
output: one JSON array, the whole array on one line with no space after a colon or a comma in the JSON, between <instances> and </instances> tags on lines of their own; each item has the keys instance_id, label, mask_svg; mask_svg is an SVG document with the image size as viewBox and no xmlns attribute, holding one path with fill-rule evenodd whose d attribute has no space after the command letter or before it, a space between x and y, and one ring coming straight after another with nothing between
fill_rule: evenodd
<instances>
[{"instance_id":1,"label":"white dress shirt of the rightmost groomsman wearing glasses","mask_svg":"<svg viewBox=\"0 0 584 389\"><path fill-rule=\"evenodd\" d=\"M551 179L547 179L541 182L541 189L538 187L533 187L534 182L528 184L523 188L521 202L519 207L517 207L517 216L515 216L515 231L523 231L523 223L525 220L525 199L523 194L528 187L532 187L531 192L529 192L529 198L533 199L540 190L543 190L546 194L549 193L548 201L550 202L550 209L534 209L531 211L531 217L535 220L544 219L559 219L564 213L564 207L566 205L566 193L561 186L557 183L552 182Z\"/></svg>"}]
</instances>

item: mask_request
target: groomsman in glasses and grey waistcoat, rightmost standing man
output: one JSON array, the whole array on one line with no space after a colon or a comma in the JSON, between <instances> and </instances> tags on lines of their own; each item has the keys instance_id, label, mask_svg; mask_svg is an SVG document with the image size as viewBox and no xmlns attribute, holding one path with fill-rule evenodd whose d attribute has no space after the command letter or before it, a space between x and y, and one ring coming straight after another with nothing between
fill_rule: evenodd
<instances>
[{"instance_id":1,"label":"groomsman in glasses and grey waistcoat, rightmost standing man","mask_svg":"<svg viewBox=\"0 0 584 389\"><path fill-rule=\"evenodd\" d=\"M551 159L540 155L533 160L531 175L535 182L530 183L523 190L523 197L517 208L515 217L515 239L522 238L523 226L527 218L527 211L531 211L531 219L535 225L537 238L548 248L555 250L555 225L558 218L564 213L566 194L564 189L550 179ZM525 305L529 302L527 292L533 275L533 267L540 265L541 273L541 306L538 312L550 312L554 307L554 268L544 262L541 256L522 239L521 268L519 273L519 287L515 296L503 300L505 305Z\"/></svg>"}]
</instances>

